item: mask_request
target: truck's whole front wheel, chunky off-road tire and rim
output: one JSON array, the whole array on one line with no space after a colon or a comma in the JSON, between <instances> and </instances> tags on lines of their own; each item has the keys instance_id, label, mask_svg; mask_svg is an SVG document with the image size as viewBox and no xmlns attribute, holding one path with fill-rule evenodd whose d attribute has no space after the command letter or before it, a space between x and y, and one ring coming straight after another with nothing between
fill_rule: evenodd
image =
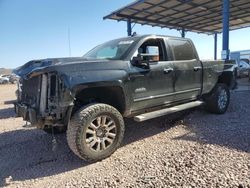
<instances>
[{"instance_id":1,"label":"truck's whole front wheel, chunky off-road tire and rim","mask_svg":"<svg viewBox=\"0 0 250 188\"><path fill-rule=\"evenodd\" d=\"M67 141L70 149L81 159L99 161L120 146L124 136L122 115L107 104L90 104L72 117Z\"/></svg>"}]
</instances>

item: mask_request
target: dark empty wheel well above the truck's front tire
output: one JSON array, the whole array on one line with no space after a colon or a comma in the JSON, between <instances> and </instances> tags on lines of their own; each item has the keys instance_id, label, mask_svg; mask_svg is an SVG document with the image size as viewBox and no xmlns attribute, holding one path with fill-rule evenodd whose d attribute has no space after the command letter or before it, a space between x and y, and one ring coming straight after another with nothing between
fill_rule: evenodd
<instances>
[{"instance_id":1,"label":"dark empty wheel well above the truck's front tire","mask_svg":"<svg viewBox=\"0 0 250 188\"><path fill-rule=\"evenodd\" d=\"M125 96L121 87L93 87L77 92L73 113L83 105L95 102L109 104L121 114L125 112Z\"/></svg>"}]
</instances>

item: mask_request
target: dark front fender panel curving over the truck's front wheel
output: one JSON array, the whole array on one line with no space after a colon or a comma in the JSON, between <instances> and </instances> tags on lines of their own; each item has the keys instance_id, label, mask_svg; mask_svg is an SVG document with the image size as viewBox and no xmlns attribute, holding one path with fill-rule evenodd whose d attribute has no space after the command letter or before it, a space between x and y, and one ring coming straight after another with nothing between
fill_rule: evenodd
<instances>
[{"instance_id":1,"label":"dark front fender panel curving over the truck's front wheel","mask_svg":"<svg viewBox=\"0 0 250 188\"><path fill-rule=\"evenodd\" d=\"M125 109L129 109L130 95L127 86L127 73L124 70L102 70L88 72L71 72L60 74L64 84L60 106L72 106L78 92L87 88L119 87L125 98Z\"/></svg>"}]
</instances>

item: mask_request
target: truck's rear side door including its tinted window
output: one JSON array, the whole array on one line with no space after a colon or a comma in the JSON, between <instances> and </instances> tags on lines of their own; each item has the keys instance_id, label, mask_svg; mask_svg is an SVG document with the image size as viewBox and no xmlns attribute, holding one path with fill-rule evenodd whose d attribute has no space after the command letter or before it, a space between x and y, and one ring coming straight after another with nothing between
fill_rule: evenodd
<instances>
[{"instance_id":1,"label":"truck's rear side door including its tinted window","mask_svg":"<svg viewBox=\"0 0 250 188\"><path fill-rule=\"evenodd\" d=\"M201 92L202 64L192 42L168 39L174 66L174 101L194 100Z\"/></svg>"}]
</instances>

